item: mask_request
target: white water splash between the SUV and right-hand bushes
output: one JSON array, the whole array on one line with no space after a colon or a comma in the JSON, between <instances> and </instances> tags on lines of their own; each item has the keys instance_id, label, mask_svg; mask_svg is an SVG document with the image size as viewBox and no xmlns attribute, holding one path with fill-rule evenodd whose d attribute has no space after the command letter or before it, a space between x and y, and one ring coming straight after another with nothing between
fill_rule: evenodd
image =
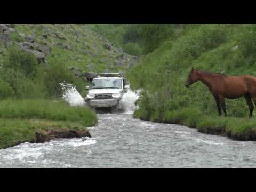
<instances>
[{"instance_id":1,"label":"white water splash between the SUV and right-hand bushes","mask_svg":"<svg viewBox=\"0 0 256 192\"><path fill-rule=\"evenodd\" d=\"M121 108L126 114L132 114L134 110L137 110L139 107L135 105L135 102L140 97L140 91L134 92L128 90L127 93L124 93L123 98L120 101Z\"/></svg>"}]
</instances>

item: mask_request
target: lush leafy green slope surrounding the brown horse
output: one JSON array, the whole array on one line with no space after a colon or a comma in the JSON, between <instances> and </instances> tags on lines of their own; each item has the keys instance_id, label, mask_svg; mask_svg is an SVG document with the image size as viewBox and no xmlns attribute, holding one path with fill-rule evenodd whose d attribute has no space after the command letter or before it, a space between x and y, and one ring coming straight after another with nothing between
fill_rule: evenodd
<instances>
[{"instance_id":1,"label":"lush leafy green slope surrounding the brown horse","mask_svg":"<svg viewBox=\"0 0 256 192\"><path fill-rule=\"evenodd\" d=\"M231 131L231 135L237 135L237 138L241 134L245 137L253 129L254 121L245 123L249 109L244 98L227 99L230 118L223 118L229 122L226 126L226 120L216 116L217 107L208 88L197 82L187 89L184 83L192 66L229 76L256 76L255 31L255 25L193 25L184 28L175 38L163 42L127 74L133 89L142 90L138 100L140 108L134 116L160 122L173 119L181 121L178 112L175 113L181 110L186 111L188 122L193 122L194 114L197 114L195 118L199 119L198 124L188 125L199 127L199 130L209 131L212 127L210 124L215 121L218 126L226 127L224 132ZM191 108L198 109L200 113L188 110ZM256 117L255 111L253 117Z\"/></svg>"}]
</instances>

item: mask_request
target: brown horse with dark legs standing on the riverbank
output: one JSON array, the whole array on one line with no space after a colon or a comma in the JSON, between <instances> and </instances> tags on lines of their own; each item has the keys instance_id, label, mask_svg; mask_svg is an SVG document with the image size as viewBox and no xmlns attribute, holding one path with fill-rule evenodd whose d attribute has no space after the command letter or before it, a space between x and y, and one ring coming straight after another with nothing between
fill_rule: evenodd
<instances>
[{"instance_id":1,"label":"brown horse with dark legs standing on the riverbank","mask_svg":"<svg viewBox=\"0 0 256 192\"><path fill-rule=\"evenodd\" d=\"M252 100L256 105L256 77L250 75L228 77L224 74L211 73L192 68L185 86L189 87L189 85L198 80L209 88L215 98L219 115L221 115L221 106L225 116L227 116L225 98L237 99L244 97L250 109L249 118L252 117Z\"/></svg>"}]
</instances>

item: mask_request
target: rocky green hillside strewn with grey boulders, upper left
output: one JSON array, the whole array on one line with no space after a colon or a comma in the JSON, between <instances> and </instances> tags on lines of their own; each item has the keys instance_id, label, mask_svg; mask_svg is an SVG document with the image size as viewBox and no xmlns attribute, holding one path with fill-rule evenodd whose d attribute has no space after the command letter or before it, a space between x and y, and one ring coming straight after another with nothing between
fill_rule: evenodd
<instances>
[{"instance_id":1,"label":"rocky green hillside strewn with grey boulders, upper left","mask_svg":"<svg viewBox=\"0 0 256 192\"><path fill-rule=\"evenodd\" d=\"M12 45L34 54L46 67L61 61L79 77L89 71L118 72L139 60L86 25L0 24L0 66Z\"/></svg>"}]
</instances>

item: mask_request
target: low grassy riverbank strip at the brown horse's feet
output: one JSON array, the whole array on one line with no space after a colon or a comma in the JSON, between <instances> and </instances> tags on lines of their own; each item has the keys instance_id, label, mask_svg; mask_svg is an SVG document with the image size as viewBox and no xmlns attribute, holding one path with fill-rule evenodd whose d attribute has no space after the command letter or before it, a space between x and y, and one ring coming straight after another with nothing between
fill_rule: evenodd
<instances>
[{"instance_id":1,"label":"low grassy riverbank strip at the brown horse's feet","mask_svg":"<svg viewBox=\"0 0 256 192\"><path fill-rule=\"evenodd\" d=\"M151 116L138 109L133 117L144 121L185 125L202 133L222 135L235 140L256 141L256 119L207 116L193 108L167 111L162 115L154 113Z\"/></svg>"}]
</instances>

